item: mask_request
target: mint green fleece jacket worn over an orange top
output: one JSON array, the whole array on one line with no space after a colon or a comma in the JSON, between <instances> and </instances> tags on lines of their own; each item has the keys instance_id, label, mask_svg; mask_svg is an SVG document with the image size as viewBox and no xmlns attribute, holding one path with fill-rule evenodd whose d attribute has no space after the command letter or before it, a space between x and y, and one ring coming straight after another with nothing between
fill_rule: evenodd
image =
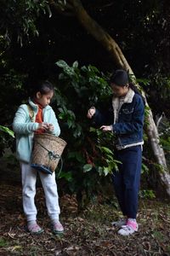
<instances>
[{"instance_id":1,"label":"mint green fleece jacket worn over an orange top","mask_svg":"<svg viewBox=\"0 0 170 256\"><path fill-rule=\"evenodd\" d=\"M20 105L14 116L13 130L16 136L16 157L20 161L29 163L31 160L31 152L33 146L34 131L38 129L38 123L35 122L38 107L29 99L29 105L33 110L33 120L29 115L28 106ZM59 137L60 128L56 119L53 108L47 106L42 109L43 122L54 125L54 131L50 132L56 137Z\"/></svg>"}]
</instances>

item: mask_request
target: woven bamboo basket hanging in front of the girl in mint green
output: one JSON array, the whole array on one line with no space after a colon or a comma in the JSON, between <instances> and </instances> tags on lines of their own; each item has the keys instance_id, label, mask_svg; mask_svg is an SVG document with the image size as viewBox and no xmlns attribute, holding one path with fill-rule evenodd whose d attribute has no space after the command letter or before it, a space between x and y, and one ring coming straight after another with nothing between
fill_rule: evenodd
<instances>
[{"instance_id":1,"label":"woven bamboo basket hanging in front of the girl in mint green","mask_svg":"<svg viewBox=\"0 0 170 256\"><path fill-rule=\"evenodd\" d=\"M31 166L52 174L58 166L66 142L48 133L35 134Z\"/></svg>"}]
</instances>

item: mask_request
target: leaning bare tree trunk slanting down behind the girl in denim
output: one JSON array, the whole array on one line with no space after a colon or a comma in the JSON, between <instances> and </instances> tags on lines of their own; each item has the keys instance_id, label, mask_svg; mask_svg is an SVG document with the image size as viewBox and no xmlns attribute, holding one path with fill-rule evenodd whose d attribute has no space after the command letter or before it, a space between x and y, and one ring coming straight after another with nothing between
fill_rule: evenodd
<instances>
[{"instance_id":1,"label":"leaning bare tree trunk slanting down behind the girl in denim","mask_svg":"<svg viewBox=\"0 0 170 256\"><path fill-rule=\"evenodd\" d=\"M72 5L72 9L74 10L77 19L82 24L82 26L97 41L99 41L99 43L102 44L104 48L107 49L107 51L109 51L111 57L116 62L117 67L123 68L127 70L128 73L133 75L133 81L136 84L136 79L133 74L133 70L128 64L125 56L123 55L122 50L116 44L116 41L113 38L111 38L111 36L107 32L105 32L105 30L88 15L87 11L83 8L80 0L68 0L68 2ZM139 84L136 85L139 87ZM146 101L146 106L149 107L143 90L142 95L144 96L144 99ZM162 168L162 171L159 172L159 176L161 177L161 183L165 187L167 195L170 197L170 174L167 170L165 154L160 145L158 131L150 108L148 110L147 119L148 125L146 125L146 133L150 139L151 148L156 158L156 163L159 164Z\"/></svg>"}]
</instances>

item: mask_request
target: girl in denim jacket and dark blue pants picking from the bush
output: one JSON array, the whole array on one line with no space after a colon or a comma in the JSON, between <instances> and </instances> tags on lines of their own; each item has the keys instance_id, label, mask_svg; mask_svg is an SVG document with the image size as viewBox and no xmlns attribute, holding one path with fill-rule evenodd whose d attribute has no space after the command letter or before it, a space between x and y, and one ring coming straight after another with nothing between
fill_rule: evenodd
<instances>
[{"instance_id":1,"label":"girl in denim jacket and dark blue pants picking from the bush","mask_svg":"<svg viewBox=\"0 0 170 256\"><path fill-rule=\"evenodd\" d=\"M122 164L118 166L119 172L113 173L113 183L124 218L112 224L120 228L118 234L128 236L138 231L136 215L144 144L144 101L133 84L129 84L124 70L116 70L111 76L111 88L111 109L101 113L91 107L88 119L102 131L112 131L116 135L114 154Z\"/></svg>"}]
</instances>

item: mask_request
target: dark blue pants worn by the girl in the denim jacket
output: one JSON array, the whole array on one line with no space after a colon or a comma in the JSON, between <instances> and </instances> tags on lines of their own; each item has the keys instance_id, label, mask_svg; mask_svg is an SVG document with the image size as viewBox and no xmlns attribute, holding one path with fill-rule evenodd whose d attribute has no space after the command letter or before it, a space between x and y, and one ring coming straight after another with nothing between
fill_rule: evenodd
<instances>
[{"instance_id":1,"label":"dark blue pants worn by the girl in the denim jacket","mask_svg":"<svg viewBox=\"0 0 170 256\"><path fill-rule=\"evenodd\" d=\"M141 146L134 146L115 151L119 171L113 172L116 197L122 213L127 218L136 218L138 211L138 194L142 164Z\"/></svg>"}]
</instances>

